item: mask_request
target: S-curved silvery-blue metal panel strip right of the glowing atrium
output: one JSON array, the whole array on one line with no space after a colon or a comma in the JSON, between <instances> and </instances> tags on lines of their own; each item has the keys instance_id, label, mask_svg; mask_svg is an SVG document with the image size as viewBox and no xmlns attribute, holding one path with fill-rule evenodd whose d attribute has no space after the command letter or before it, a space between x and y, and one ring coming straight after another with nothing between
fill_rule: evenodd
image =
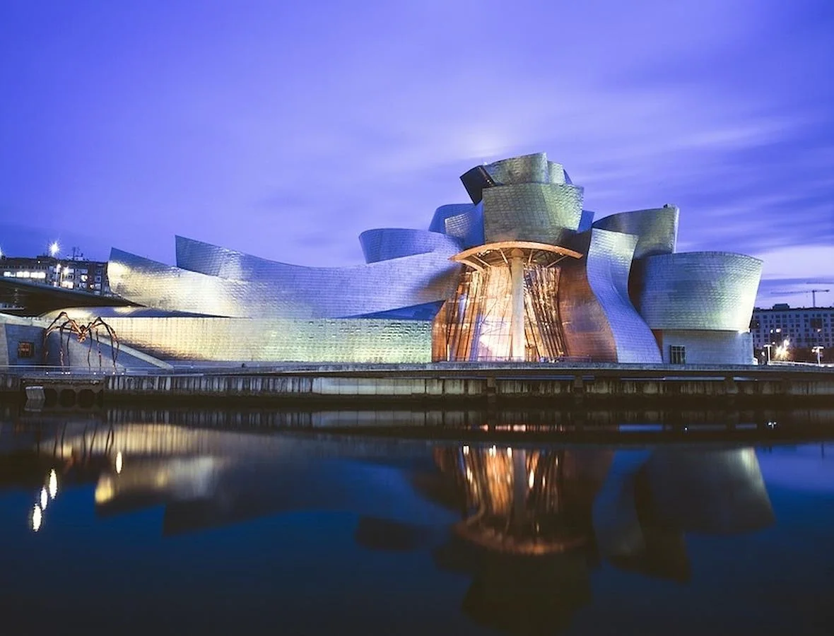
<instances>
[{"instance_id":1,"label":"S-curved silvery-blue metal panel strip right of the glowing atrium","mask_svg":"<svg viewBox=\"0 0 834 636\"><path fill-rule=\"evenodd\" d=\"M631 304L628 278L638 239L602 229L590 231L587 273L614 336L617 362L661 363L651 329Z\"/></svg>"}]
</instances>

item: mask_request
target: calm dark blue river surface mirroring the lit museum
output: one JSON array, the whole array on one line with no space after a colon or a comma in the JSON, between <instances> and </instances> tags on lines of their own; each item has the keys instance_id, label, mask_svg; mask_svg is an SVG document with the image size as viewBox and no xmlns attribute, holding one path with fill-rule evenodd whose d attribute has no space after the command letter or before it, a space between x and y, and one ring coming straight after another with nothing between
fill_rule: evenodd
<instances>
[{"instance_id":1,"label":"calm dark blue river surface mirroring the lit museum","mask_svg":"<svg viewBox=\"0 0 834 636\"><path fill-rule=\"evenodd\" d=\"M66 423L64 423L66 424ZM0 633L834 633L834 445L0 428Z\"/></svg>"}]
</instances>

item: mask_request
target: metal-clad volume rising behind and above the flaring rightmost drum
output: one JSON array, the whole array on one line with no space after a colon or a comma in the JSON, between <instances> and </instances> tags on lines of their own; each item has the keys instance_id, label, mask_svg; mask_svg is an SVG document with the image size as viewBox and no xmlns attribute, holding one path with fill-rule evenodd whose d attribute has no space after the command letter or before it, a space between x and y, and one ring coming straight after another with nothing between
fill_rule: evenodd
<instances>
[{"instance_id":1,"label":"metal-clad volume rising behind and above the flaring rightmost drum","mask_svg":"<svg viewBox=\"0 0 834 636\"><path fill-rule=\"evenodd\" d=\"M634 234L637 238L634 258L675 252L677 243L678 217L676 206L664 206L634 212L620 212L600 218L594 228Z\"/></svg>"}]
</instances>

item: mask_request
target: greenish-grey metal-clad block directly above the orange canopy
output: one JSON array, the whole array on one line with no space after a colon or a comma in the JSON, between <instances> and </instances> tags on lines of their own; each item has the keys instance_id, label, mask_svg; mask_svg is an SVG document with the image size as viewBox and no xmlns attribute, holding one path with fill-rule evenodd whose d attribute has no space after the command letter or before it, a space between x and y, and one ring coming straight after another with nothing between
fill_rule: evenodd
<instances>
[{"instance_id":1,"label":"greenish-grey metal-clad block directly above the orange canopy","mask_svg":"<svg viewBox=\"0 0 834 636\"><path fill-rule=\"evenodd\" d=\"M484 191L486 243L564 244L579 228L582 188L564 183L519 183Z\"/></svg>"}]
</instances>

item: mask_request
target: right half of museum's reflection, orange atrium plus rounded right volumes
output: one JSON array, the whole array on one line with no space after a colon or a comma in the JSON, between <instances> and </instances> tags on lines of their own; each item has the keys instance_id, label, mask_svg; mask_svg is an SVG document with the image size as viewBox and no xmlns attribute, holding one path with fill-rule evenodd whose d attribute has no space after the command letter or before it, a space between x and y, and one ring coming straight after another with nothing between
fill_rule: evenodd
<instances>
[{"instance_id":1,"label":"right half of museum's reflection, orange atrium plus rounded right volumes","mask_svg":"<svg viewBox=\"0 0 834 636\"><path fill-rule=\"evenodd\" d=\"M751 532L773 522L752 448L463 446L438 449L435 460L442 485L420 488L463 517L436 561L472 577L465 613L509 633L569 624L590 602L590 568L600 557L686 580L685 533Z\"/></svg>"}]
</instances>

